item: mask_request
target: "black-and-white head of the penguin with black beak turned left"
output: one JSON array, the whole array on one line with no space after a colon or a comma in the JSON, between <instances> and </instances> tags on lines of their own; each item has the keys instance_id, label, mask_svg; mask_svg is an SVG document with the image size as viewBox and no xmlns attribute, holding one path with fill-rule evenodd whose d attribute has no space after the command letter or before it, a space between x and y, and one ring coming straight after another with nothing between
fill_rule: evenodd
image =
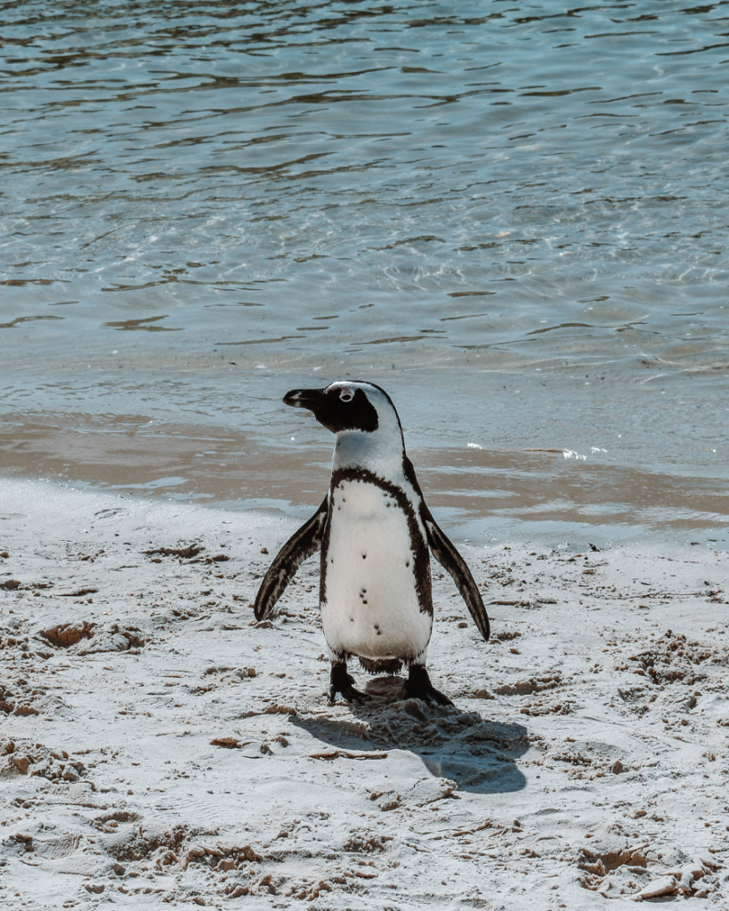
<instances>
[{"instance_id":1,"label":"black-and-white head of the penguin with black beak turned left","mask_svg":"<svg viewBox=\"0 0 729 911\"><path fill-rule=\"evenodd\" d=\"M360 431L375 434L382 425L400 422L390 396L374 383L337 380L325 389L292 389L284 404L307 408L333 434ZM402 432L401 432L402 433Z\"/></svg>"}]
</instances>

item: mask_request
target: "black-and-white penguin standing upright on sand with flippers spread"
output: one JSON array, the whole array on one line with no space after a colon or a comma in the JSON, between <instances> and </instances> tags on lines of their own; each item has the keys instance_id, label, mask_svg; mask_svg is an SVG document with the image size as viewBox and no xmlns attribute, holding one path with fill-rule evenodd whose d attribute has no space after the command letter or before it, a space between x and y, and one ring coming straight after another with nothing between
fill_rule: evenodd
<instances>
[{"instance_id":1,"label":"black-and-white penguin standing upright on sand with flippers spread","mask_svg":"<svg viewBox=\"0 0 729 911\"><path fill-rule=\"evenodd\" d=\"M452 705L430 682L433 631L428 548L453 577L485 641L488 614L465 560L426 507L406 455L395 405L374 383L338 380L293 389L283 403L306 408L336 435L329 491L281 548L253 605L264 619L303 561L321 550L320 609L331 661L329 700L369 697L354 689L347 660L369 673L408 669L406 698Z\"/></svg>"}]
</instances>

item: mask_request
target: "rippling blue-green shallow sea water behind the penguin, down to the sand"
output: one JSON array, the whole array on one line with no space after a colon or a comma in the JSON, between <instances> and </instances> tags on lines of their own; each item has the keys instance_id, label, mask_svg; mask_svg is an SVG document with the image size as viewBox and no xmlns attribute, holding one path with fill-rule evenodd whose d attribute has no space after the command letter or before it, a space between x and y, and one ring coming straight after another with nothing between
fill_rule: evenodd
<instances>
[{"instance_id":1,"label":"rippling blue-green shallow sea water behind the penguin, down to the sand","mask_svg":"<svg viewBox=\"0 0 729 911\"><path fill-rule=\"evenodd\" d=\"M457 537L724 539L728 3L0 39L0 473L303 516L331 439L282 394L352 375Z\"/></svg>"}]
</instances>

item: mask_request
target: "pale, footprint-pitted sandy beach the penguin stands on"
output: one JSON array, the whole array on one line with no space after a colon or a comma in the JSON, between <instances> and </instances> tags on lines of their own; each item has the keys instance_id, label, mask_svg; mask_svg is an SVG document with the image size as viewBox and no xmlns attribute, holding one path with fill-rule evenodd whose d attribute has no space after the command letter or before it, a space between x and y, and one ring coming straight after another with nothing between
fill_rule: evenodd
<instances>
[{"instance_id":1,"label":"pale, footprint-pitted sandy beach the penguin stands on","mask_svg":"<svg viewBox=\"0 0 729 911\"><path fill-rule=\"evenodd\" d=\"M15 480L0 503L0 904L727 900L724 553L461 545L494 636L436 566L456 708L398 678L330 707L316 561L252 622L292 519Z\"/></svg>"}]
</instances>

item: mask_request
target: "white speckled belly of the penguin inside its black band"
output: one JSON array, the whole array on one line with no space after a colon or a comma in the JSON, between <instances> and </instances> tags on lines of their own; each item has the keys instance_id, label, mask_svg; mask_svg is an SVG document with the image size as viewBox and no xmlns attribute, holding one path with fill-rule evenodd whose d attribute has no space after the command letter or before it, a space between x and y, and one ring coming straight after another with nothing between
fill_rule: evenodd
<instances>
[{"instance_id":1,"label":"white speckled belly of the penguin inside its black band","mask_svg":"<svg viewBox=\"0 0 729 911\"><path fill-rule=\"evenodd\" d=\"M327 645L337 655L415 658L433 625L416 585L416 548L428 569L425 541L413 540L419 527L375 484L345 481L332 497L321 604Z\"/></svg>"}]
</instances>

